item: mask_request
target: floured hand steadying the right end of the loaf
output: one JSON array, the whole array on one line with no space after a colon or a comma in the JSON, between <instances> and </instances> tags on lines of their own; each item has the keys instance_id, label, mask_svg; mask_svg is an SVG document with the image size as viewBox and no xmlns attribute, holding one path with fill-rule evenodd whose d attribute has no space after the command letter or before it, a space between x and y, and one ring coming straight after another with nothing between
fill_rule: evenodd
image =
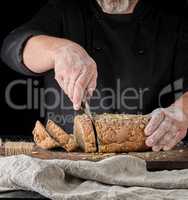
<instances>
[{"instance_id":1,"label":"floured hand steadying the right end of the loaf","mask_svg":"<svg viewBox=\"0 0 188 200\"><path fill-rule=\"evenodd\" d=\"M145 134L148 137L146 145L152 147L153 151L170 150L186 136L188 116L180 108L174 105L159 108L150 116Z\"/></svg>"}]
</instances>

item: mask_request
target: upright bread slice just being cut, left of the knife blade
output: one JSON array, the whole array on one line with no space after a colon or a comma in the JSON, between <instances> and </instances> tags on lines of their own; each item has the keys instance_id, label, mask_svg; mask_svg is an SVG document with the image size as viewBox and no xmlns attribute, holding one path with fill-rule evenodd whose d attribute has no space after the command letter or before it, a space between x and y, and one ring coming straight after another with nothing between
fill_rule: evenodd
<instances>
[{"instance_id":1,"label":"upright bread slice just being cut, left of the knife blade","mask_svg":"<svg viewBox=\"0 0 188 200\"><path fill-rule=\"evenodd\" d=\"M86 153L94 153L97 151L93 125L87 115L83 114L75 117L74 136L76 137L79 147Z\"/></svg>"}]
</instances>

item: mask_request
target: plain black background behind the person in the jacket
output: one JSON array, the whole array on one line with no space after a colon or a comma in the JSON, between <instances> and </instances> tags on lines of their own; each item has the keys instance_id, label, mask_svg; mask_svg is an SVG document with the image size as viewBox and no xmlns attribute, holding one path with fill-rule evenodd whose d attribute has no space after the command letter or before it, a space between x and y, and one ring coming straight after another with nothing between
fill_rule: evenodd
<instances>
[{"instance_id":1,"label":"plain black background behind the person in the jacket","mask_svg":"<svg viewBox=\"0 0 188 200\"><path fill-rule=\"evenodd\" d=\"M63 0L62 0L63 1ZM79 0L78 0L79 1ZM0 46L6 35L28 21L47 0L18 1L6 0L0 3ZM181 12L185 1L154 0L158 6L163 6L167 12ZM5 88L16 79L26 79L23 75L10 70L0 61L0 137L8 135L31 136L34 123L39 119L39 112L34 110L15 111L5 102ZM35 78L36 79L36 78ZM41 80L40 80L41 81ZM42 85L42 81L41 81ZM26 101L26 94L23 88L17 88L14 100L19 103Z\"/></svg>"}]
</instances>

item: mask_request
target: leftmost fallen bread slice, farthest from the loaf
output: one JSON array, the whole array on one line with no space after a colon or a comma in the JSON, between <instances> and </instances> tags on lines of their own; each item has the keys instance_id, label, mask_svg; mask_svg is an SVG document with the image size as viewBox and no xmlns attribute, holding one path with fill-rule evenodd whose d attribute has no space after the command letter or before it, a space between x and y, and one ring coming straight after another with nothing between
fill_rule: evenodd
<instances>
[{"instance_id":1,"label":"leftmost fallen bread slice, farthest from the loaf","mask_svg":"<svg viewBox=\"0 0 188 200\"><path fill-rule=\"evenodd\" d=\"M40 148L53 149L60 146L60 144L58 144L53 138L50 137L40 121L36 122L35 128L32 133L36 145Z\"/></svg>"}]
</instances>

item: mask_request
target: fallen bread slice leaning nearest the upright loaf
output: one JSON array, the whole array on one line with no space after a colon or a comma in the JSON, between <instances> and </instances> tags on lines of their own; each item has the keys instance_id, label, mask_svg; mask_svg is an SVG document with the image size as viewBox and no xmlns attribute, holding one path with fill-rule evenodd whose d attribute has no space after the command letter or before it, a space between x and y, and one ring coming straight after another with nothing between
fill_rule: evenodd
<instances>
[{"instance_id":1,"label":"fallen bread slice leaning nearest the upright loaf","mask_svg":"<svg viewBox=\"0 0 188 200\"><path fill-rule=\"evenodd\" d=\"M50 136L56 140L66 151L72 152L78 148L75 137L72 134L67 134L55 122L49 120L46 125L46 130Z\"/></svg>"}]
</instances>

